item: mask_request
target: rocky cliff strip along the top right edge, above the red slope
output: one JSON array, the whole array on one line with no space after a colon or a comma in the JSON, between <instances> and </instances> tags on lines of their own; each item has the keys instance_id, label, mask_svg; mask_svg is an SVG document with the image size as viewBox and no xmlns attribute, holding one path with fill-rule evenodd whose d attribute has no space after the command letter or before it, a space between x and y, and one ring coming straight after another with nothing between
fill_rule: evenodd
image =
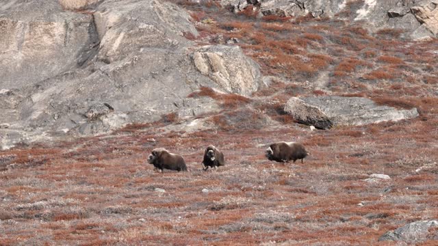
<instances>
[{"instance_id":1,"label":"rocky cliff strip along the top right edge, above the red slope","mask_svg":"<svg viewBox=\"0 0 438 246\"><path fill-rule=\"evenodd\" d=\"M365 20L368 29L405 29L409 38L423 39L435 37L438 30L438 1L436 0L227 0L222 5L233 12L241 12L248 5L262 16L341 16L352 20Z\"/></svg>"}]
</instances>

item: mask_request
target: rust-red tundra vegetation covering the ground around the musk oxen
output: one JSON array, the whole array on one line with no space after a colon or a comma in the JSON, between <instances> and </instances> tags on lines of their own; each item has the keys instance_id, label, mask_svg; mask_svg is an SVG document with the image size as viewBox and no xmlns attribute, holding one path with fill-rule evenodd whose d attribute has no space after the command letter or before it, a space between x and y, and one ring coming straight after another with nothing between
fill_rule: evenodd
<instances>
[{"instance_id":1,"label":"rust-red tundra vegetation covering the ground around the musk oxen","mask_svg":"<svg viewBox=\"0 0 438 246\"><path fill-rule=\"evenodd\" d=\"M362 1L349 1L339 19L174 2L200 33L188 38L237 38L233 45L276 79L250 97L207 87L191 94L220 105L201 118L206 130L183 130L188 122L170 113L0 152L0 245L377 245L388 230L437 219L437 40L355 26L344 17ZM416 107L420 117L310 131L283 111L290 96L321 95ZM300 141L310 155L303 164L270 162L264 151L274 141ZM226 165L204 172L209 144ZM157 147L181 154L190 172L153 172L146 158Z\"/></svg>"}]
</instances>

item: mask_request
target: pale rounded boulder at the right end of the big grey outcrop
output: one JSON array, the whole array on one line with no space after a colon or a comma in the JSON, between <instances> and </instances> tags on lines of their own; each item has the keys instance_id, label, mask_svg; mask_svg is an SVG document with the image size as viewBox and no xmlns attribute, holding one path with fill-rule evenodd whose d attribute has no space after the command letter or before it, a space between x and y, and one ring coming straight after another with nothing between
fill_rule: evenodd
<instances>
[{"instance_id":1,"label":"pale rounded boulder at the right end of the big grey outcrop","mask_svg":"<svg viewBox=\"0 0 438 246\"><path fill-rule=\"evenodd\" d=\"M239 46L203 46L192 54L192 59L201 74L226 92L249 95L259 87L259 66Z\"/></svg>"}]
</instances>

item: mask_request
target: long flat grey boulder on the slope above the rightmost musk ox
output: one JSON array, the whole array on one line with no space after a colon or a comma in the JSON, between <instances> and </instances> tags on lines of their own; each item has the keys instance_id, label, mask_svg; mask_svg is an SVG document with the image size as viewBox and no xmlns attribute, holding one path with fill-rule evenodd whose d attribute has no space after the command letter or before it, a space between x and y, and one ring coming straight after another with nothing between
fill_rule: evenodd
<instances>
[{"instance_id":1,"label":"long flat grey boulder on the slope above the rightmost musk ox","mask_svg":"<svg viewBox=\"0 0 438 246\"><path fill-rule=\"evenodd\" d=\"M398 110L394 107L378 106L368 98L342 96L291 98L285 105L285 111L299 122L323 129L331 127L328 122L333 125L358 126L418 116L415 108Z\"/></svg>"}]
</instances>

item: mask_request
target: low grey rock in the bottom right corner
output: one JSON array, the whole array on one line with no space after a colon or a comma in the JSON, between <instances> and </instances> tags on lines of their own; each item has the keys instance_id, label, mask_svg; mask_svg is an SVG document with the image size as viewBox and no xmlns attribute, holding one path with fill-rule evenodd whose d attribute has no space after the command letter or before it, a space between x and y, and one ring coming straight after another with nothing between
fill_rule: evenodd
<instances>
[{"instance_id":1,"label":"low grey rock in the bottom right corner","mask_svg":"<svg viewBox=\"0 0 438 246\"><path fill-rule=\"evenodd\" d=\"M394 231L383 234L378 241L404 241L405 243L420 243L426 240L437 240L436 230L429 231L430 228L437 228L438 221L415 221Z\"/></svg>"}]
</instances>

